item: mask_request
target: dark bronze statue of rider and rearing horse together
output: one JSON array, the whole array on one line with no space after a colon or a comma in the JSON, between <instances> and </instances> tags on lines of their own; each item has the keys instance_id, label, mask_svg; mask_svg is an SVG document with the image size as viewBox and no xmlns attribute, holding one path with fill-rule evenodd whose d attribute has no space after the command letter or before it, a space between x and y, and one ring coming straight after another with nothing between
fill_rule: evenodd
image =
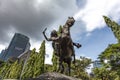
<instances>
[{"instance_id":1,"label":"dark bronze statue of rider and rearing horse together","mask_svg":"<svg viewBox=\"0 0 120 80\"><path fill-rule=\"evenodd\" d=\"M72 56L74 57L74 63L75 63L75 52L74 47L80 48L81 45L79 43L74 43L71 39L70 35L70 28L73 26L75 20L73 17L68 17L68 20L66 21L65 25L62 28L60 36L57 35L57 32L53 30L51 32L51 37L47 38L45 35L46 29L43 31L44 37L47 41L52 41L53 49L55 50L56 55L59 57L59 68L61 73L64 72L64 66L63 62L68 64L69 69L69 75L70 75L70 67L71 67L71 61Z\"/></svg>"}]
</instances>

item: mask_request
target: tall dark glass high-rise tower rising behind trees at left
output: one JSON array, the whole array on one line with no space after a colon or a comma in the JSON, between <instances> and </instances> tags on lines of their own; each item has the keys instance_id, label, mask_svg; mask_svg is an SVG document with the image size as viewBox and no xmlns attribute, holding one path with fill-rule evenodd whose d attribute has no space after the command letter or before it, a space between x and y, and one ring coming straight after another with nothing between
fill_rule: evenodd
<instances>
[{"instance_id":1,"label":"tall dark glass high-rise tower rising behind trees at left","mask_svg":"<svg viewBox=\"0 0 120 80\"><path fill-rule=\"evenodd\" d=\"M23 52L30 49L29 38L20 33L15 33L7 50L4 53L4 60L8 60L11 57L18 57Z\"/></svg>"}]
</instances>

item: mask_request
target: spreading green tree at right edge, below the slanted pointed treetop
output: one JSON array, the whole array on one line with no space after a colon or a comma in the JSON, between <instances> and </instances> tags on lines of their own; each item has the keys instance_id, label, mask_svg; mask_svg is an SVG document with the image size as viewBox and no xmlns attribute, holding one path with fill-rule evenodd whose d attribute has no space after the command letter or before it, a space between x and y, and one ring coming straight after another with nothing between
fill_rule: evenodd
<instances>
[{"instance_id":1,"label":"spreading green tree at right edge, below the slanted pointed treetop","mask_svg":"<svg viewBox=\"0 0 120 80\"><path fill-rule=\"evenodd\" d=\"M109 45L100 55L99 59L104 63L104 60L109 61L109 66L111 71L116 72L117 75L120 75L120 44L111 44Z\"/></svg>"}]
</instances>

